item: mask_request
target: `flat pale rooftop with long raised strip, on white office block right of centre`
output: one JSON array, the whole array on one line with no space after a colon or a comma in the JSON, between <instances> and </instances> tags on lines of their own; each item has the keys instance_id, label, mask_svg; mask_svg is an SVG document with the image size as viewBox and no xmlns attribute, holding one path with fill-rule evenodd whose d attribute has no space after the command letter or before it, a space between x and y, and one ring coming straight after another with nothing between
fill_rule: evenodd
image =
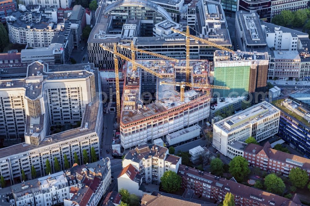
<instances>
[{"instance_id":1,"label":"flat pale rooftop with long raised strip, on white office block right of centre","mask_svg":"<svg viewBox=\"0 0 310 206\"><path fill-rule=\"evenodd\" d=\"M245 125L254 124L260 119L276 114L277 112L280 112L280 110L270 103L263 101L214 124L224 132L229 133Z\"/></svg>"}]
</instances>

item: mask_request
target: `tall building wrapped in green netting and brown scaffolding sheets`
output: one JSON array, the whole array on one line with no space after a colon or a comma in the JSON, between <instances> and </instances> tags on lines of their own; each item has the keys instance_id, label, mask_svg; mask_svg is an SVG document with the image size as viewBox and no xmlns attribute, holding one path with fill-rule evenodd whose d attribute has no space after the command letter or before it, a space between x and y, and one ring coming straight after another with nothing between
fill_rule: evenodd
<instances>
[{"instance_id":1,"label":"tall building wrapped in green netting and brown scaffolding sheets","mask_svg":"<svg viewBox=\"0 0 310 206\"><path fill-rule=\"evenodd\" d=\"M214 85L228 86L229 90L214 89L214 97L246 96L249 101L265 99L268 72L268 53L214 53Z\"/></svg>"}]
</instances>

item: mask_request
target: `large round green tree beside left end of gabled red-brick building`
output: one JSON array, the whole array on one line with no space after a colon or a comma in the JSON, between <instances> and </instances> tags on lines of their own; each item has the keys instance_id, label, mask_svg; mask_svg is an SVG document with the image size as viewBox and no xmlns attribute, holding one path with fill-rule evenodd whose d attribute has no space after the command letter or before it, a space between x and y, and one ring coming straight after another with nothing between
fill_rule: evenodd
<instances>
[{"instance_id":1,"label":"large round green tree beside left end of gabled red-brick building","mask_svg":"<svg viewBox=\"0 0 310 206\"><path fill-rule=\"evenodd\" d=\"M241 156L236 156L229 162L229 173L237 181L242 181L249 173L248 161Z\"/></svg>"}]
</instances>

